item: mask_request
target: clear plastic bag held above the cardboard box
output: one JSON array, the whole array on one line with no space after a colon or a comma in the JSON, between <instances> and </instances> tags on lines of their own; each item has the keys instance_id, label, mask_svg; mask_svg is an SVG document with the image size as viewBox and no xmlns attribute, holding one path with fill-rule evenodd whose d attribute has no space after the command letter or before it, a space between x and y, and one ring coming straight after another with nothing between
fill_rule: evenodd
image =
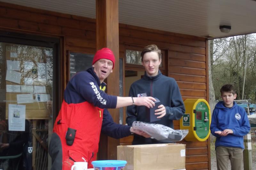
<instances>
[{"instance_id":1,"label":"clear plastic bag held above the cardboard box","mask_svg":"<svg viewBox=\"0 0 256 170\"><path fill-rule=\"evenodd\" d=\"M135 121L132 123L134 129L148 133L152 138L162 142L178 142L188 134L188 130L174 130L162 124L145 123Z\"/></svg>"}]
</instances>

